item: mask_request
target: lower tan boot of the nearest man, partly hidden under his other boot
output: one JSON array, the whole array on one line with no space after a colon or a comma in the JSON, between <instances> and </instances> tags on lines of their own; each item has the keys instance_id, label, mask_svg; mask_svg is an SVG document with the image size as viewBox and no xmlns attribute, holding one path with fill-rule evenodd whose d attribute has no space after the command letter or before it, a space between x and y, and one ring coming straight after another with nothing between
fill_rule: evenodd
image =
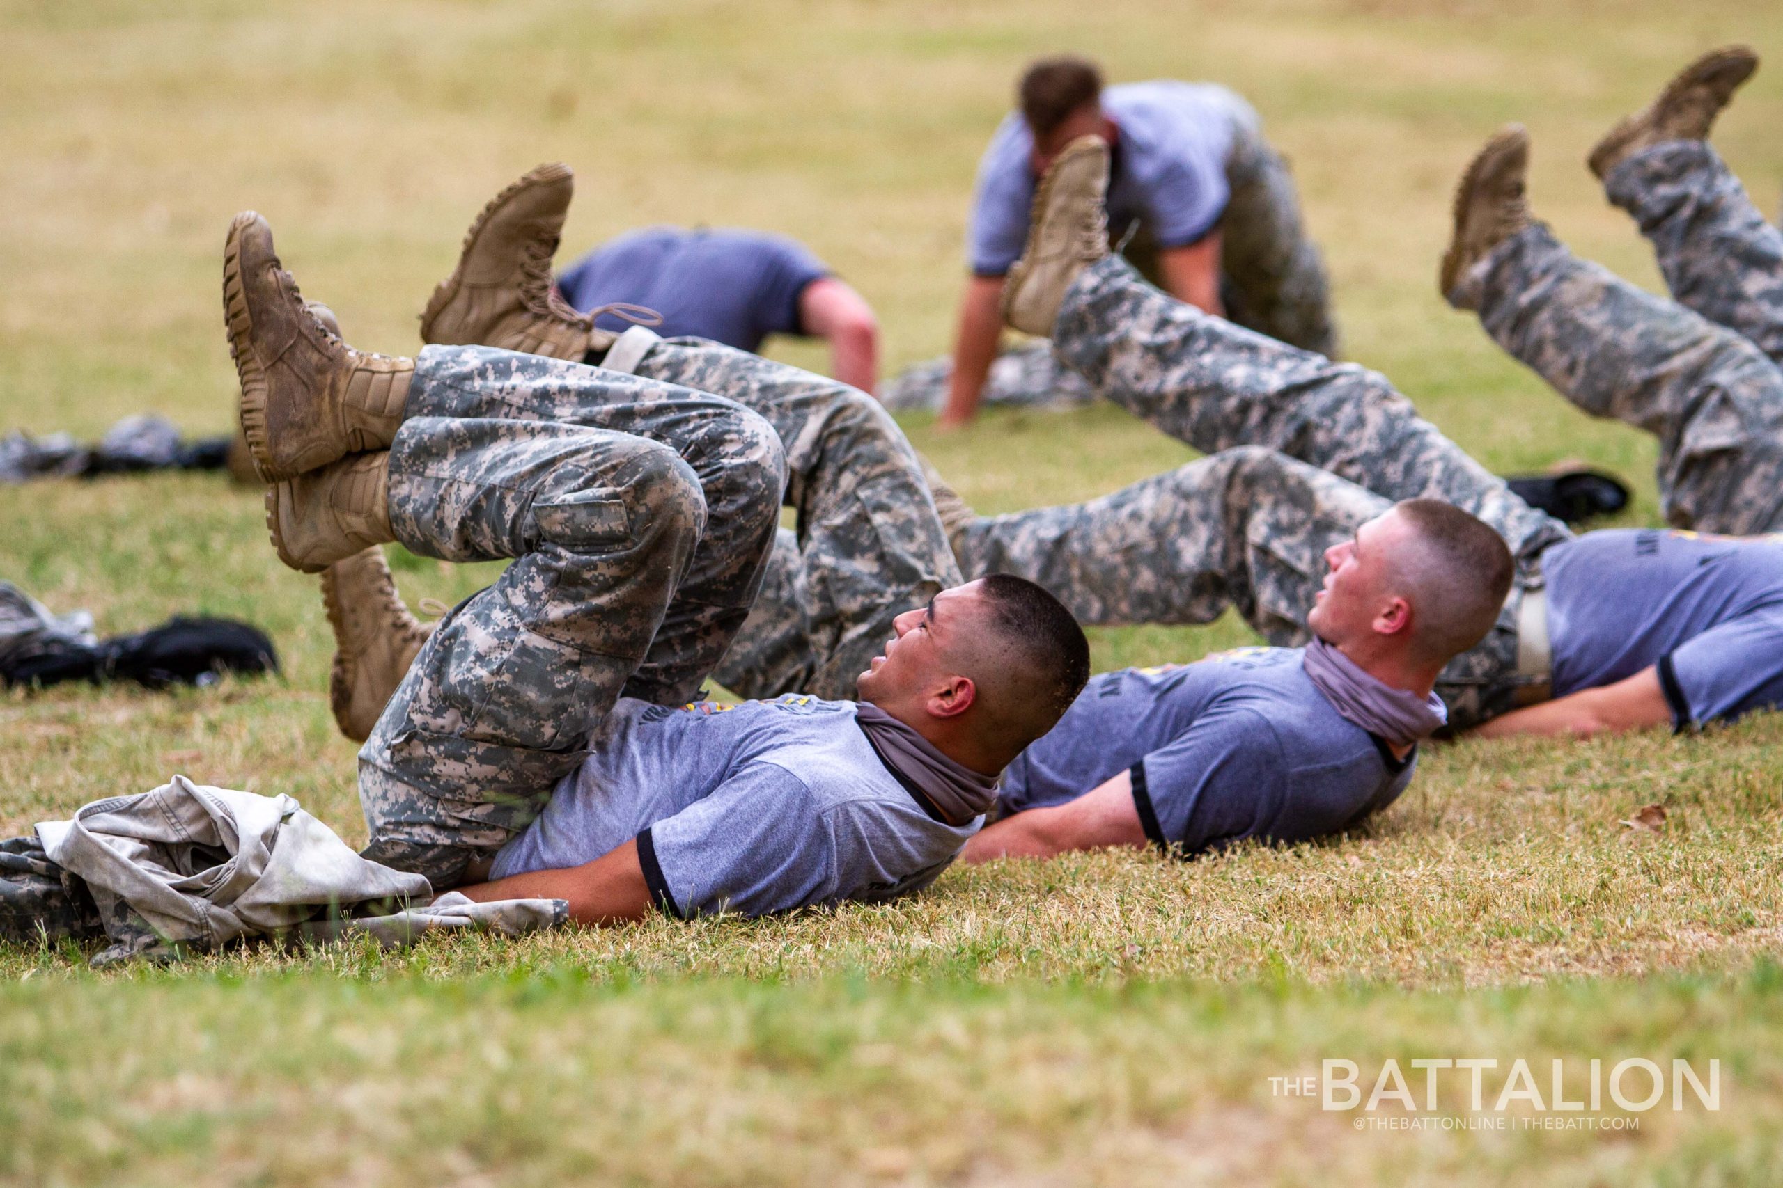
<instances>
[{"instance_id":1,"label":"lower tan boot of the nearest man, partly hidden under his other boot","mask_svg":"<svg viewBox=\"0 0 1783 1188\"><path fill-rule=\"evenodd\" d=\"M353 454L266 492L266 529L278 559L319 574L390 533L390 454Z\"/></svg>"}]
</instances>

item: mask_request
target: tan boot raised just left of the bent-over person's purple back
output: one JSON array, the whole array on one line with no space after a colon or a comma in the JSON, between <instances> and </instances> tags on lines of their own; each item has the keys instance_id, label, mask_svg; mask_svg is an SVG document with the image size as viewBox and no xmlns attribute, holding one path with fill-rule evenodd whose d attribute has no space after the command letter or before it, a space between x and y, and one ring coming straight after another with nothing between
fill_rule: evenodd
<instances>
[{"instance_id":1,"label":"tan boot raised just left of the bent-over person's purple back","mask_svg":"<svg viewBox=\"0 0 1783 1188\"><path fill-rule=\"evenodd\" d=\"M617 335L594 328L551 283L563 217L576 189L569 166L538 166L476 216L458 267L428 299L421 340L485 346L581 362Z\"/></svg>"}]
</instances>

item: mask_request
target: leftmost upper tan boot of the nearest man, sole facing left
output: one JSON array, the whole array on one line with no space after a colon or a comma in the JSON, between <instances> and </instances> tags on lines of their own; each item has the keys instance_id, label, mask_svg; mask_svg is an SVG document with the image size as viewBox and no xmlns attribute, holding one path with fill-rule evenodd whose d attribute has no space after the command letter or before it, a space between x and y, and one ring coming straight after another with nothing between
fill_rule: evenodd
<instances>
[{"instance_id":1,"label":"leftmost upper tan boot of the nearest man, sole facing left","mask_svg":"<svg viewBox=\"0 0 1783 1188\"><path fill-rule=\"evenodd\" d=\"M223 317L241 429L262 479L292 479L396 438L414 360L355 351L330 333L251 210L235 216L223 246Z\"/></svg>"}]
</instances>

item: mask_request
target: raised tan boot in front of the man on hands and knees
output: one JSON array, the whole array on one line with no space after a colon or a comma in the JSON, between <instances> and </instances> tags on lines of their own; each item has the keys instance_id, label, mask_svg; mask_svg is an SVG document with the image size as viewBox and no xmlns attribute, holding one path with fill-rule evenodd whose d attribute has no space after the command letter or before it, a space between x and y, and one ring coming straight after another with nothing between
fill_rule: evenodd
<instances>
[{"instance_id":1,"label":"raised tan boot in front of the man on hands and knees","mask_svg":"<svg viewBox=\"0 0 1783 1188\"><path fill-rule=\"evenodd\" d=\"M1004 280L1002 315L1015 330L1050 337L1064 290L1109 253L1109 146L1082 135L1064 146L1034 192L1027 249Z\"/></svg>"}]
</instances>

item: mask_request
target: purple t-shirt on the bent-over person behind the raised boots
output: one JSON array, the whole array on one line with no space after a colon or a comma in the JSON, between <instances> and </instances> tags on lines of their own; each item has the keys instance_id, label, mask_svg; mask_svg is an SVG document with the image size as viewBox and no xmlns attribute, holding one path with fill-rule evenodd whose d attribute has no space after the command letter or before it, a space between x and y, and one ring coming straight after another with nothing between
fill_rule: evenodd
<instances>
[{"instance_id":1,"label":"purple t-shirt on the bent-over person behind the raised boots","mask_svg":"<svg viewBox=\"0 0 1783 1188\"><path fill-rule=\"evenodd\" d=\"M663 338L711 338L754 351L768 335L804 333L799 297L829 269L795 239L740 230L651 226L612 239L558 273L563 299L587 313L613 301L656 310ZM631 322L613 313L601 330Z\"/></svg>"}]
</instances>

